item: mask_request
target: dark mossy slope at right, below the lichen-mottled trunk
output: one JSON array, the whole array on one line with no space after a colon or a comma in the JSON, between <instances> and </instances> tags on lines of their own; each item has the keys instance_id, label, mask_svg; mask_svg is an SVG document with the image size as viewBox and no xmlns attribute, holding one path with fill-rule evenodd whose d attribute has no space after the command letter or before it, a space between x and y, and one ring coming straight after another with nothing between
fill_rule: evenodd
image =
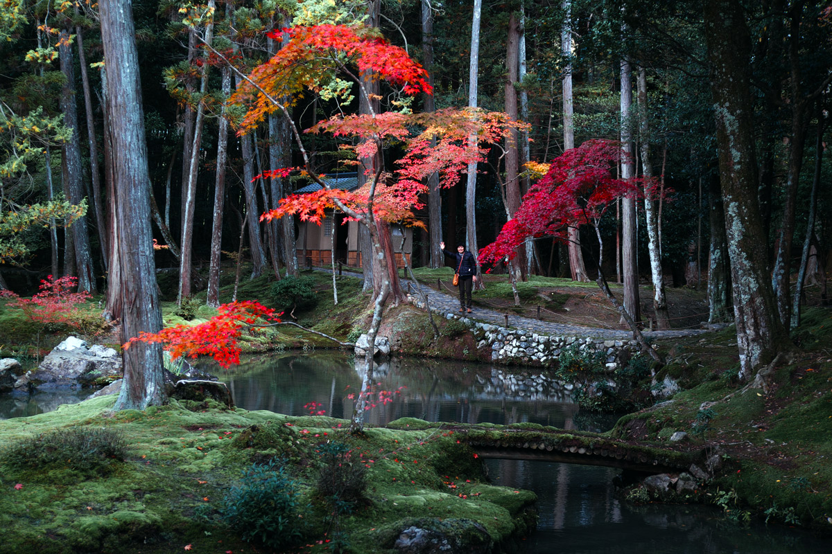
<instances>
[{"instance_id":1,"label":"dark mossy slope at right, below the lichen-mottled trunk","mask_svg":"<svg viewBox=\"0 0 832 554\"><path fill-rule=\"evenodd\" d=\"M832 531L832 319L805 313L793 335L794 360L775 371L769 390L737 381L733 330L671 348L658 375L683 390L668 402L620 419L612 436L666 443L689 434L691 449L711 449L726 462L704 498L731 517Z\"/></svg>"}]
</instances>

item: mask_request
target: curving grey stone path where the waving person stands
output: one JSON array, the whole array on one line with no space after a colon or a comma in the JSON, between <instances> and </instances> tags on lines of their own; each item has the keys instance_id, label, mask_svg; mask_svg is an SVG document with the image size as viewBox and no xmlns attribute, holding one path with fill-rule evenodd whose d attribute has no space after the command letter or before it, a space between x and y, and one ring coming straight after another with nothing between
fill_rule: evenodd
<instances>
[{"instance_id":1,"label":"curving grey stone path where the waving person stands","mask_svg":"<svg viewBox=\"0 0 832 554\"><path fill-rule=\"evenodd\" d=\"M359 273L346 272L354 277L361 277ZM423 297L416 290L416 285L409 279L401 279L402 287L409 290L410 296L414 305L424 308ZM434 291L427 285L418 285L419 290L428 295L428 306L430 310L445 318L456 318L465 323L489 323L491 325L505 327L506 315L501 311L489 310L488 308L473 308L472 313L460 313L459 297L457 294L453 296L444 292ZM476 295L476 292L474 292ZM589 327L582 325L572 325L565 323L552 323L551 321L540 321L530 317L521 317L515 315L508 315L508 327L513 327L522 331L531 331L537 335L559 335L559 336L584 336L603 340L618 340L628 341L632 339L631 331L617 330L617 329L601 329L598 327ZM706 333L704 329L680 329L671 331L641 331L645 338L649 341L651 339L667 339L678 336L696 336Z\"/></svg>"}]
</instances>

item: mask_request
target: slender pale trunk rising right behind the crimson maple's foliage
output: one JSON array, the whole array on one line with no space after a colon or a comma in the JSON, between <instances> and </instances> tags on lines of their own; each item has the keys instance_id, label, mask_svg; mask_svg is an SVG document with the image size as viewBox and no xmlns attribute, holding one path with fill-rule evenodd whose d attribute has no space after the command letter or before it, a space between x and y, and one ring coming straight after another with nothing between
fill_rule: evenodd
<instances>
[{"instance_id":1,"label":"slender pale trunk rising right behind the crimson maple's foliage","mask_svg":"<svg viewBox=\"0 0 832 554\"><path fill-rule=\"evenodd\" d=\"M636 176L636 160L632 153L631 105L632 73L630 61L621 61L621 140L622 179ZM622 277L624 277L624 309L633 321L641 321L641 302L638 297L638 257L636 252L636 198L627 194L622 199Z\"/></svg>"}]
</instances>

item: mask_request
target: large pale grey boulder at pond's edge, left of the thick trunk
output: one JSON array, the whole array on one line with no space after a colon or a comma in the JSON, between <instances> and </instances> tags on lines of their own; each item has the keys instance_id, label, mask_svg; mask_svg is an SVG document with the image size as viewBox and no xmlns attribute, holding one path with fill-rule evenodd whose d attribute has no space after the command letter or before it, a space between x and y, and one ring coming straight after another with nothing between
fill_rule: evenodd
<instances>
[{"instance_id":1,"label":"large pale grey boulder at pond's edge, left of the thick trunk","mask_svg":"<svg viewBox=\"0 0 832 554\"><path fill-rule=\"evenodd\" d=\"M81 389L106 385L121 377L121 356L112 348L71 336L56 346L37 367L27 373L38 390Z\"/></svg>"}]
</instances>

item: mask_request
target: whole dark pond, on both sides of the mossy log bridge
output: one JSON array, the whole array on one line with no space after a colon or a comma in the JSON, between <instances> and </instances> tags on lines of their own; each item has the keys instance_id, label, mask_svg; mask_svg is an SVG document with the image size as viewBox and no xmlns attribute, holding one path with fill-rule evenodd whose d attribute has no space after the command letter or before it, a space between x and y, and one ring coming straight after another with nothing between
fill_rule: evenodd
<instances>
[{"instance_id":1,"label":"whole dark pond, on both sides of the mossy log bridge","mask_svg":"<svg viewBox=\"0 0 832 554\"><path fill-rule=\"evenodd\" d=\"M592 431L615 424L615 416L581 412L557 386L531 379L507 385L510 377L504 370L448 360L394 360L379 368L374 379L377 390L390 391L393 400L371 409L367 420L374 425L401 417L532 422ZM351 413L349 395L357 392L361 371L352 355L332 351L286 352L251 358L233 370L214 369L241 408L290 415L323 410L338 418ZM40 413L54 409L57 401L55 395L25 401L0 396L0 417ZM555 549L571 554L829 552L828 543L810 533L761 522L740 525L711 507L622 503L614 497L616 469L499 459L486 464L494 483L537 493L540 519L537 532L523 543L524 554Z\"/></svg>"}]
</instances>

